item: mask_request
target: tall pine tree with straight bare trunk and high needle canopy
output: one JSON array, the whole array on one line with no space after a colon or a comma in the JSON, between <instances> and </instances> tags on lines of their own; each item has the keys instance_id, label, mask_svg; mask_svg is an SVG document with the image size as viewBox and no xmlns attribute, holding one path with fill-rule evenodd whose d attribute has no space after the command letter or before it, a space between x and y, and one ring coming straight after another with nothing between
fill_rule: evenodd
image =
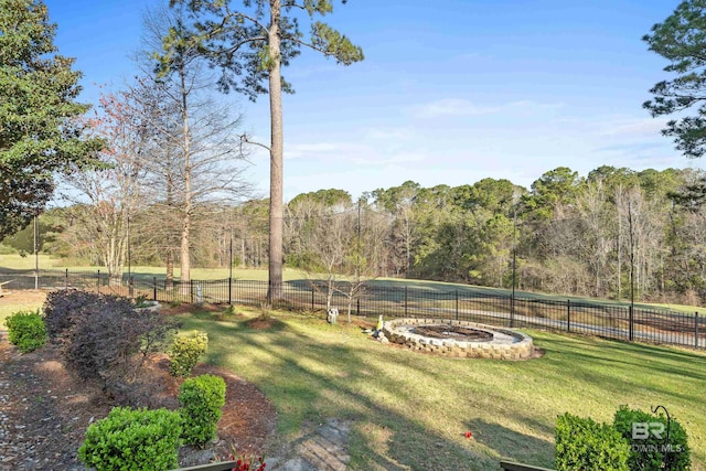
<instances>
[{"instance_id":1,"label":"tall pine tree with straight bare trunk and high needle canopy","mask_svg":"<svg viewBox=\"0 0 706 471\"><path fill-rule=\"evenodd\" d=\"M240 3L231 8L231 3ZM345 0L343 0L345 3ZM190 38L174 31L164 40L162 66L171 67L184 41L220 67L222 90L234 89L252 100L259 94L269 94L270 195L269 195L269 291L270 301L281 297L282 283L282 98L292 88L281 67L299 55L302 47L332 56L349 65L363 60L363 51L345 35L318 21L333 12L333 0L171 0L172 7L186 7L195 21ZM308 38L299 29L299 20L308 19Z\"/></svg>"}]
</instances>

